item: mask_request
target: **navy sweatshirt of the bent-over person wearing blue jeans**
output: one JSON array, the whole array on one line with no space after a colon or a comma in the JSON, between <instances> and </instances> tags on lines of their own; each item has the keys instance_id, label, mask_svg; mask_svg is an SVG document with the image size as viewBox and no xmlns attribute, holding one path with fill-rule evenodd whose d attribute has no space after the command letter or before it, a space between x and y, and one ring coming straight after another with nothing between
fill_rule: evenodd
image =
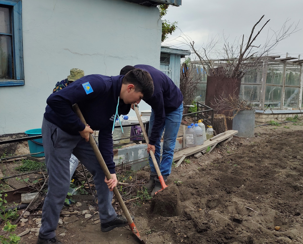
<instances>
[{"instance_id":1,"label":"navy sweatshirt of the bent-over person wearing blue jeans","mask_svg":"<svg viewBox=\"0 0 303 244\"><path fill-rule=\"evenodd\" d=\"M160 129L165 122L165 113L176 110L181 105L183 96L175 83L162 71L150 65L138 64L134 67L148 71L154 82L154 94L150 99L143 98L143 100L155 112L155 122L149 138L149 144L155 145L156 140L160 137Z\"/></svg>"}]
</instances>

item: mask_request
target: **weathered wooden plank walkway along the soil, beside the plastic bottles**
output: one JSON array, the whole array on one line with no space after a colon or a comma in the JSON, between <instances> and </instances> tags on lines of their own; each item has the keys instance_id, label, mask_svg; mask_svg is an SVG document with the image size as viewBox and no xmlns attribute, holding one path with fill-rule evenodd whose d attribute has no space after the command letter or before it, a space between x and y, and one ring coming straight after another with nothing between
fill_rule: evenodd
<instances>
[{"instance_id":1,"label":"weathered wooden plank walkway along the soil, beside the plastic bottles","mask_svg":"<svg viewBox=\"0 0 303 244\"><path fill-rule=\"evenodd\" d=\"M224 135L221 135L221 136L217 136L215 139L212 139L212 140L206 140L204 142L203 145L197 145L195 147L188 147L188 148L185 148L179 152L176 152L174 154L174 160L177 161L179 159L181 159L183 156L187 157L187 156L190 156L190 155L193 155L197 152L203 152L205 153L207 148L210 146L211 149L208 151L208 152L211 152L212 149L215 148L215 146L219 143L219 142L227 142L230 140L230 138L237 134L238 131L237 130L228 130L226 132L224 132L225 134ZM223 134L223 133L222 133ZM219 134L220 135L220 134Z\"/></svg>"}]
</instances>

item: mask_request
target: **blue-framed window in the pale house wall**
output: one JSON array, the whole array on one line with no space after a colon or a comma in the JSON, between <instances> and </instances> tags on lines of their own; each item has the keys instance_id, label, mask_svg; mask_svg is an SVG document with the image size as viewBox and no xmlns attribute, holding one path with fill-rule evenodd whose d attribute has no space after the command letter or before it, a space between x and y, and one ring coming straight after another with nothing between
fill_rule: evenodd
<instances>
[{"instance_id":1,"label":"blue-framed window in the pale house wall","mask_svg":"<svg viewBox=\"0 0 303 244\"><path fill-rule=\"evenodd\" d=\"M0 86L24 85L21 0L0 0Z\"/></svg>"}]
</instances>

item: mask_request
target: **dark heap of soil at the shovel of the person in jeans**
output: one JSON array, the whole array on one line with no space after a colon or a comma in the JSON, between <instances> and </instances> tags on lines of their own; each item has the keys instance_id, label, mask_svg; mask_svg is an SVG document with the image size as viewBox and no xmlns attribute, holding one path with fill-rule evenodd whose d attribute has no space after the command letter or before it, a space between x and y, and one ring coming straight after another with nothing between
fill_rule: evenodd
<instances>
[{"instance_id":1,"label":"dark heap of soil at the shovel of the person in jeans","mask_svg":"<svg viewBox=\"0 0 303 244\"><path fill-rule=\"evenodd\" d=\"M153 197L151 213L163 217L181 215L180 194L175 185L169 185Z\"/></svg>"}]
</instances>

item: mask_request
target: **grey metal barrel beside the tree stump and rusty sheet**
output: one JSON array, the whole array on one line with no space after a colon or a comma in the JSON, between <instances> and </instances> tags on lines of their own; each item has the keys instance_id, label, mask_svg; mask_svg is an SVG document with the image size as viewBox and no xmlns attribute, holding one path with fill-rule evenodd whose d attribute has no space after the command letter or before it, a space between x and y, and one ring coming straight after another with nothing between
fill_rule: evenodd
<instances>
[{"instance_id":1,"label":"grey metal barrel beside the tree stump and rusty sheet","mask_svg":"<svg viewBox=\"0 0 303 244\"><path fill-rule=\"evenodd\" d=\"M237 136L244 138L254 137L255 113L256 110L240 110L238 112L232 120L232 129L238 131Z\"/></svg>"}]
</instances>

